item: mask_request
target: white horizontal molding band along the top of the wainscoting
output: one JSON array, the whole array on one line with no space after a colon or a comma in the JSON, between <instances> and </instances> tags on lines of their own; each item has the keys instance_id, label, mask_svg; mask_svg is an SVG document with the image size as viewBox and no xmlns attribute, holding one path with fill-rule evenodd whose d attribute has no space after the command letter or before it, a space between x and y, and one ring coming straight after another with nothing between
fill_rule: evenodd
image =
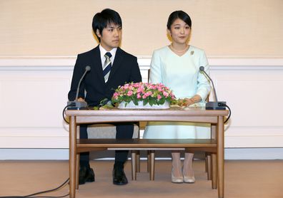
<instances>
[{"instance_id":1,"label":"white horizontal molding band along the top of the wainscoting","mask_svg":"<svg viewBox=\"0 0 283 198\"><path fill-rule=\"evenodd\" d=\"M137 56L149 68L152 56ZM212 70L282 70L283 56L208 56ZM76 56L0 56L0 70L72 71Z\"/></svg>"}]
</instances>

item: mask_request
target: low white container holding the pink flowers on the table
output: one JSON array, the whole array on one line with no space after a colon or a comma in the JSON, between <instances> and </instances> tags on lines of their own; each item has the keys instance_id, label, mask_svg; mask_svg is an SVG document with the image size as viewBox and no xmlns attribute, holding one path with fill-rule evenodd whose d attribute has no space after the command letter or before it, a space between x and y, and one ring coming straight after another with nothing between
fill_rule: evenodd
<instances>
[{"instance_id":1,"label":"low white container holding the pink flowers on the table","mask_svg":"<svg viewBox=\"0 0 283 198\"><path fill-rule=\"evenodd\" d=\"M133 103L133 101L129 102L126 105L126 102L121 102L119 103L118 108L119 109L168 109L170 108L170 104L168 103L168 101L165 101L165 103L163 105L149 105L149 103L147 103L147 105L144 105L143 101L139 101L138 105L135 105Z\"/></svg>"}]
</instances>

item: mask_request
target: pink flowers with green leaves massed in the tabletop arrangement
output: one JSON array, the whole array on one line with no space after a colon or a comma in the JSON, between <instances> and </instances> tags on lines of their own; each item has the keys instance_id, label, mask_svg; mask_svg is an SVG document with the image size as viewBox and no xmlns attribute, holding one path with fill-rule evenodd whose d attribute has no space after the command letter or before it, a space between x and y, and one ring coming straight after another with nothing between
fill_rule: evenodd
<instances>
[{"instance_id":1,"label":"pink flowers with green leaves massed in the tabletop arrangement","mask_svg":"<svg viewBox=\"0 0 283 198\"><path fill-rule=\"evenodd\" d=\"M112 97L112 103L125 102L126 105L131 101L138 105L139 101L143 105L163 105L166 101L171 103L175 100L172 90L162 83L126 83L119 86Z\"/></svg>"}]
</instances>

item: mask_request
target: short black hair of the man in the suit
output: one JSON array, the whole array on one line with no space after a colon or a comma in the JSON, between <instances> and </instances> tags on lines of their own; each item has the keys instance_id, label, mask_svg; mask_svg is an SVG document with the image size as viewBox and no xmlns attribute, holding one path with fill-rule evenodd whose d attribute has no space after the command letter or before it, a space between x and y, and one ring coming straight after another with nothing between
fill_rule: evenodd
<instances>
[{"instance_id":1,"label":"short black hair of the man in the suit","mask_svg":"<svg viewBox=\"0 0 283 198\"><path fill-rule=\"evenodd\" d=\"M100 38L96 34L96 30L102 35L102 31L109 24L116 24L121 27L121 17L118 12L111 9L104 9L103 11L96 13L94 19L92 19L92 29L100 42Z\"/></svg>"}]
</instances>

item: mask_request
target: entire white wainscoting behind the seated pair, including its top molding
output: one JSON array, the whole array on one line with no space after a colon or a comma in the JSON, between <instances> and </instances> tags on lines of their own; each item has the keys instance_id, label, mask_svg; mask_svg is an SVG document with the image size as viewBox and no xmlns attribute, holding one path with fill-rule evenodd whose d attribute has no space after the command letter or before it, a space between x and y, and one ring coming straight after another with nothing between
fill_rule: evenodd
<instances>
[{"instance_id":1,"label":"entire white wainscoting behind the seated pair, including its top molding","mask_svg":"<svg viewBox=\"0 0 283 198\"><path fill-rule=\"evenodd\" d=\"M0 58L0 148L68 148L62 119L75 57ZM147 81L149 56L139 56ZM232 118L225 147L283 147L282 58L209 58Z\"/></svg>"}]
</instances>

